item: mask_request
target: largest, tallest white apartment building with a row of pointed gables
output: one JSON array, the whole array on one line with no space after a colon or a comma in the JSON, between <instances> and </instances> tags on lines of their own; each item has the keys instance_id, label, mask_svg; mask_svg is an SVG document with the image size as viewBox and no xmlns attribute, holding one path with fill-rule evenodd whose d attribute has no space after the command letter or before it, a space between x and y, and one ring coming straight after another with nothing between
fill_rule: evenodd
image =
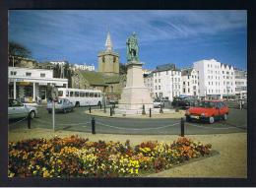
<instances>
[{"instance_id":1,"label":"largest, tallest white apartment building with a row of pointed gables","mask_svg":"<svg viewBox=\"0 0 256 188\"><path fill-rule=\"evenodd\" d=\"M233 67L215 59L194 63L199 73L199 96L208 98L231 97L234 94Z\"/></svg>"}]
</instances>

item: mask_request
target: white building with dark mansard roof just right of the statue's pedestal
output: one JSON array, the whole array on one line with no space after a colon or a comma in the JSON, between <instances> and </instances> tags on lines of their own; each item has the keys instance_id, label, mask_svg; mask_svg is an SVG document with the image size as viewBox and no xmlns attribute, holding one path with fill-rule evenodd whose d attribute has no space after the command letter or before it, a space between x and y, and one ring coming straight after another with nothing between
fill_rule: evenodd
<instances>
[{"instance_id":1,"label":"white building with dark mansard roof just right of the statue's pedestal","mask_svg":"<svg viewBox=\"0 0 256 188\"><path fill-rule=\"evenodd\" d=\"M181 88L181 71L176 69L174 64L158 66L153 71L153 91L154 96L167 98L172 101L173 96L179 96Z\"/></svg>"}]
</instances>

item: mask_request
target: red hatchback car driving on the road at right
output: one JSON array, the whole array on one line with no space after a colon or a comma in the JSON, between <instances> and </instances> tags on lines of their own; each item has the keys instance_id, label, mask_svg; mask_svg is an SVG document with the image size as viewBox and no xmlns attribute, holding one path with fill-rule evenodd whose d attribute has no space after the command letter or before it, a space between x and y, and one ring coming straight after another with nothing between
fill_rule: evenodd
<instances>
[{"instance_id":1,"label":"red hatchback car driving on the road at right","mask_svg":"<svg viewBox=\"0 0 256 188\"><path fill-rule=\"evenodd\" d=\"M214 123L215 120L223 118L227 119L228 107L221 100L203 100L196 107L190 107L186 110L186 121L198 119Z\"/></svg>"}]
</instances>

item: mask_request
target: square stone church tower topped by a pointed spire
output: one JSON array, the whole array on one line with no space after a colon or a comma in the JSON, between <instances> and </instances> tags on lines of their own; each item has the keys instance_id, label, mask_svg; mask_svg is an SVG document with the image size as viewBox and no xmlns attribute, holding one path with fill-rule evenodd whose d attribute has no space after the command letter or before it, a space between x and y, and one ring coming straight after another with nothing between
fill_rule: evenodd
<instances>
[{"instance_id":1,"label":"square stone church tower topped by a pointed spire","mask_svg":"<svg viewBox=\"0 0 256 188\"><path fill-rule=\"evenodd\" d=\"M105 50L97 54L98 72L108 75L119 74L119 54L113 51L110 33L107 32Z\"/></svg>"}]
</instances>

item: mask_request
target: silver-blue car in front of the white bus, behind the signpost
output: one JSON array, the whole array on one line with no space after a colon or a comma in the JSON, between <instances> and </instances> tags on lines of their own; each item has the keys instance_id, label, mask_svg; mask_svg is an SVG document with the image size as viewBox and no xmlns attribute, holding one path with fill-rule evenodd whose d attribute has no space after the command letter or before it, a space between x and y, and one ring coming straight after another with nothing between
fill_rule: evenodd
<instances>
[{"instance_id":1,"label":"silver-blue car in front of the white bus, behind the signpost","mask_svg":"<svg viewBox=\"0 0 256 188\"><path fill-rule=\"evenodd\" d=\"M64 113L68 111L73 111L75 105L66 98L59 98L58 101L55 102L55 112L62 111ZM48 113L52 112L52 100L47 103L47 111Z\"/></svg>"}]
</instances>

